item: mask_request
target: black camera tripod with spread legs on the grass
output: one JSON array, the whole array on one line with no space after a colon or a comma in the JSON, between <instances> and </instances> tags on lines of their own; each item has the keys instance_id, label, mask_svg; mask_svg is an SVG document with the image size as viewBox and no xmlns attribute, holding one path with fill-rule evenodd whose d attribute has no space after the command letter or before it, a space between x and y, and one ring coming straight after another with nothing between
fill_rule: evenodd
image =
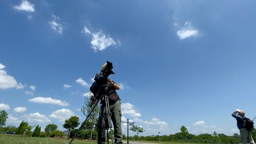
<instances>
[{"instance_id":1,"label":"black camera tripod with spread legs on the grass","mask_svg":"<svg viewBox=\"0 0 256 144\"><path fill-rule=\"evenodd\" d=\"M99 119L98 119L98 127L90 127L90 128L98 128L98 130L106 129L107 130L107 143L109 143L108 129L110 129L112 144L114 144L113 135L112 135L112 122L111 122L110 107L109 107L109 103L108 103L108 96L107 95L101 95L100 100L101 100L102 105L101 105L100 116L99 116ZM91 112L88 114L85 121L81 124L78 131L75 133L74 137L70 140L69 144L71 144L71 142L74 140L75 136L78 134L79 130L84 126L84 123L90 117L91 113L94 111L95 107L98 105L98 102L100 100L98 100L97 103L95 104L95 106L92 108ZM105 118L107 119L107 121L105 121L105 126L102 125L102 120L103 120L104 114L106 115ZM98 135L98 137L100 137L100 135Z\"/></svg>"}]
</instances>

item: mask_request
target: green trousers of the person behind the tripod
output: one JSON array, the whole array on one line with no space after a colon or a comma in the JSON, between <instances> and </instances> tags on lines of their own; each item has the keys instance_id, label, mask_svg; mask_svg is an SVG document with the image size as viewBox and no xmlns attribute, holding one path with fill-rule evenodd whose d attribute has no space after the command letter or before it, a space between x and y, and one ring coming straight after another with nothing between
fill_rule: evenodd
<instances>
[{"instance_id":1,"label":"green trousers of the person behind the tripod","mask_svg":"<svg viewBox=\"0 0 256 144\"><path fill-rule=\"evenodd\" d=\"M122 113L121 113L121 103L120 101L116 101L116 102L109 102L109 106L110 106L110 114L111 114L111 120L113 122L113 127L114 127L114 144L122 144L122 128L121 128L121 117L122 117ZM102 107L101 105L101 110ZM105 127L106 127L106 110L104 109L104 114L103 114L103 118L102 118L102 124L100 124L100 116L99 115L99 119L98 119L98 141L97 144L105 144ZM110 129L108 130L108 133L110 133Z\"/></svg>"}]
</instances>

